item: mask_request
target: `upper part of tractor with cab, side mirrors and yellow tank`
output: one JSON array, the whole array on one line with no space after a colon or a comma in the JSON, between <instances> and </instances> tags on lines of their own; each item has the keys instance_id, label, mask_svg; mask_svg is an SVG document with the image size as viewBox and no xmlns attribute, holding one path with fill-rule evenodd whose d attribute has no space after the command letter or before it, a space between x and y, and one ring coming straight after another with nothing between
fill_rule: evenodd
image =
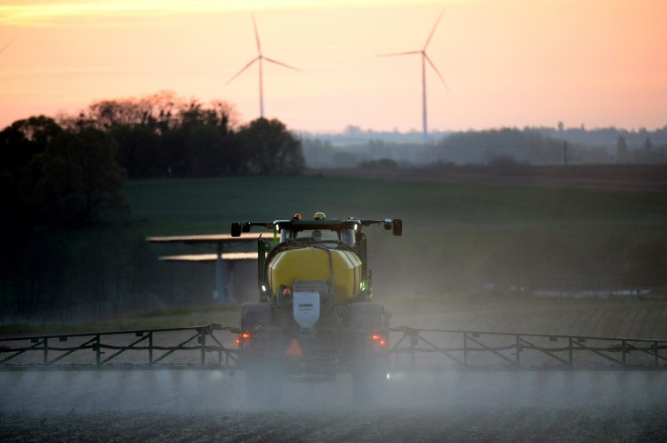
<instances>
[{"instance_id":1,"label":"upper part of tractor with cab, side mirrors and yellow tank","mask_svg":"<svg viewBox=\"0 0 667 443\"><path fill-rule=\"evenodd\" d=\"M310 220L295 214L291 220L233 223L231 234L240 236L252 226L273 230L273 244L258 240L261 302L307 290L333 296L341 305L372 299L366 237L362 234L362 228L372 224L393 230L394 235L402 234L399 219L327 219L323 213Z\"/></svg>"}]
</instances>

